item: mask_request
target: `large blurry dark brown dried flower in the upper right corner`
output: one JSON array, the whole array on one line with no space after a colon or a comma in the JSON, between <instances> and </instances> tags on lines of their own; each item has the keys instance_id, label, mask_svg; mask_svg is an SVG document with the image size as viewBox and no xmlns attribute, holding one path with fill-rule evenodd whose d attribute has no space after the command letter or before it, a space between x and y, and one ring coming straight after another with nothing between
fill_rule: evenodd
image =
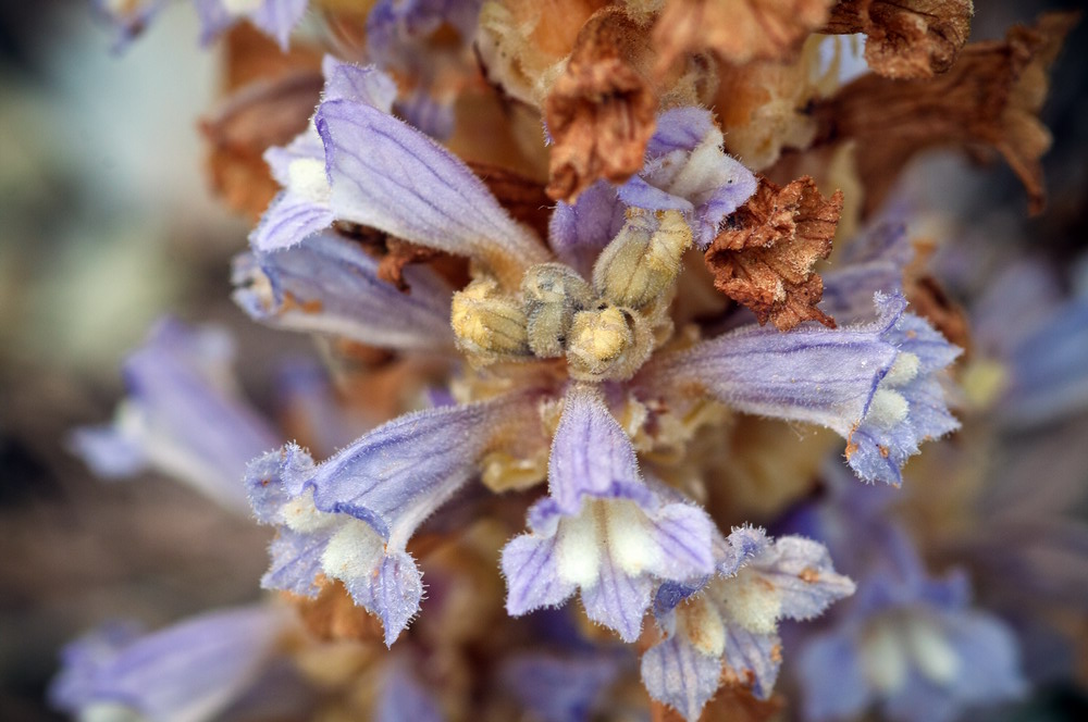
<instances>
[{"instance_id":1,"label":"large blurry dark brown dried flower in the upper right corner","mask_svg":"<svg viewBox=\"0 0 1088 722\"><path fill-rule=\"evenodd\" d=\"M1046 204L1039 158L1050 133L1039 121L1047 72L1078 13L1048 13L1003 41L968 45L943 75L891 80L867 75L819 103L818 142L857 142L865 212L879 207L915 153L941 146L992 148L1024 183L1030 210Z\"/></svg>"}]
</instances>

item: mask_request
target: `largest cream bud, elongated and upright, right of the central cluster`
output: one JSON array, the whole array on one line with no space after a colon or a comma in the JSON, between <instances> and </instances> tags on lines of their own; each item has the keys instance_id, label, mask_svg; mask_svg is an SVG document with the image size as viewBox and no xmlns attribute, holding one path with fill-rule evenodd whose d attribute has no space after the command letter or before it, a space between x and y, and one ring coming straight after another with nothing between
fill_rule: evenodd
<instances>
[{"instance_id":1,"label":"largest cream bud, elongated and upright, right of the central cluster","mask_svg":"<svg viewBox=\"0 0 1088 722\"><path fill-rule=\"evenodd\" d=\"M648 306L671 288L691 240L680 211L634 215L602 251L593 285L616 306Z\"/></svg>"}]
</instances>

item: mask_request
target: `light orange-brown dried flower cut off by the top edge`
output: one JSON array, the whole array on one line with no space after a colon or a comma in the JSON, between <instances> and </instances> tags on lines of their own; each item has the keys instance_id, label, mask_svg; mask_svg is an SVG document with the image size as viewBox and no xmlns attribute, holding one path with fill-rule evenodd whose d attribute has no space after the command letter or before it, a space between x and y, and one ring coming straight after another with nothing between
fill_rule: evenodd
<instances>
[{"instance_id":1,"label":"light orange-brown dried flower cut off by the top edge","mask_svg":"<svg viewBox=\"0 0 1088 722\"><path fill-rule=\"evenodd\" d=\"M656 73L683 54L709 51L734 65L794 55L829 17L834 0L668 0L654 25Z\"/></svg>"}]
</instances>

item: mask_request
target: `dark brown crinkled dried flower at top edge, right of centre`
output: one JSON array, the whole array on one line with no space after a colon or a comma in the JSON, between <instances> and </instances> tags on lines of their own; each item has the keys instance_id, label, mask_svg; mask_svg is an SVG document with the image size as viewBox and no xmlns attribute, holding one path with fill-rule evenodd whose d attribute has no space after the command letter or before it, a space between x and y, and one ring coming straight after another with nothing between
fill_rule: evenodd
<instances>
[{"instance_id":1,"label":"dark brown crinkled dried flower at top edge, right of centre","mask_svg":"<svg viewBox=\"0 0 1088 722\"><path fill-rule=\"evenodd\" d=\"M972 0L841 0L825 33L864 33L865 60L885 77L932 77L952 67L970 34Z\"/></svg>"}]
</instances>

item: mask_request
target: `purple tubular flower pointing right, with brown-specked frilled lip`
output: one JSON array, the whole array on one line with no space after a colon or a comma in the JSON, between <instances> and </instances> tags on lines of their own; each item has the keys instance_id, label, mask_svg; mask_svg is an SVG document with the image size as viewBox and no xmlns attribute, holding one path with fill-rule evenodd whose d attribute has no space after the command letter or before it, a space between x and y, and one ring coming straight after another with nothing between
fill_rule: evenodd
<instances>
[{"instance_id":1,"label":"purple tubular flower pointing right, with brown-specked frilled lip","mask_svg":"<svg viewBox=\"0 0 1088 722\"><path fill-rule=\"evenodd\" d=\"M902 296L876 296L878 318L790 333L746 326L662 354L636 383L698 389L747 413L827 426L849 440L862 480L898 485L918 445L955 430L940 372L960 353Z\"/></svg>"}]
</instances>

